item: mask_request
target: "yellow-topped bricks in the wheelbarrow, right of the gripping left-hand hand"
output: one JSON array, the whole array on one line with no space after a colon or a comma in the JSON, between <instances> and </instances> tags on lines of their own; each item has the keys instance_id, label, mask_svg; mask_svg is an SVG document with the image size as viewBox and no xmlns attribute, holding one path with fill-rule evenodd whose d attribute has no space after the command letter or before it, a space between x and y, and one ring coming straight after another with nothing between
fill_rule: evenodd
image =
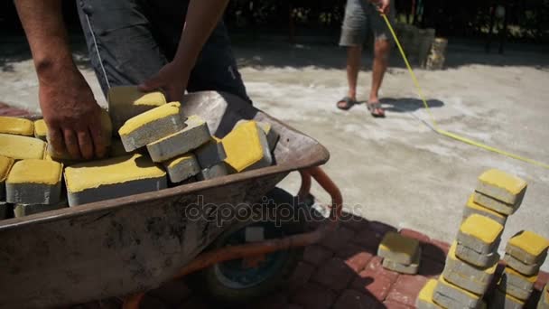
<instances>
[{"instance_id":1,"label":"yellow-topped bricks in the wheelbarrow, right of the gripping left-hand hand","mask_svg":"<svg viewBox=\"0 0 549 309\"><path fill-rule=\"evenodd\" d=\"M181 103L166 103L159 95L119 87L110 89L108 101L120 137L111 148L116 157L67 167L70 206L272 164L265 130L254 121L239 124L219 139L210 134L206 121L186 117ZM91 173L94 176L88 177Z\"/></svg>"}]
</instances>

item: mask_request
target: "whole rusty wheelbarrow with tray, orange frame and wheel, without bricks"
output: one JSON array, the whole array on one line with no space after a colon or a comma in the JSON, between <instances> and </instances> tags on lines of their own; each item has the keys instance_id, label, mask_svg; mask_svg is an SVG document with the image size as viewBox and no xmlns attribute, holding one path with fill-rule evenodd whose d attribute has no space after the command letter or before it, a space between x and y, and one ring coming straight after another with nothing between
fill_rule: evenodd
<instances>
[{"instance_id":1,"label":"whole rusty wheelbarrow with tray, orange frame and wheel, without bricks","mask_svg":"<svg viewBox=\"0 0 549 309\"><path fill-rule=\"evenodd\" d=\"M206 119L219 137L242 118L271 123L280 134L275 164L0 221L0 307L53 307L124 295L124 306L137 308L146 291L187 275L201 278L200 286L209 286L215 297L239 302L273 287L281 272L292 270L299 248L335 229L342 201L318 167L330 157L322 145L226 93L193 93L184 102L184 112ZM235 205L257 204L293 171L302 176L301 200L312 179L330 193L324 224L308 231L302 220L274 224L223 214ZM275 193L275 204L288 201L284 196ZM291 199L286 204L302 207Z\"/></svg>"}]
</instances>

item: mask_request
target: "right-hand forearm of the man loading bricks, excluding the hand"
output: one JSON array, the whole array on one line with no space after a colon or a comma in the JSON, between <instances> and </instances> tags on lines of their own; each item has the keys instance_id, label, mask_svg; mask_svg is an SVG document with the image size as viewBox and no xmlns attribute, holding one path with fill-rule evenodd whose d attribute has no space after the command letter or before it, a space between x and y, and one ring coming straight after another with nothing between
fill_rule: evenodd
<instances>
[{"instance_id":1,"label":"right-hand forearm of the man loading bricks, excluding the hand","mask_svg":"<svg viewBox=\"0 0 549 309\"><path fill-rule=\"evenodd\" d=\"M174 61L193 67L202 46L228 4L228 0L191 0Z\"/></svg>"}]
</instances>

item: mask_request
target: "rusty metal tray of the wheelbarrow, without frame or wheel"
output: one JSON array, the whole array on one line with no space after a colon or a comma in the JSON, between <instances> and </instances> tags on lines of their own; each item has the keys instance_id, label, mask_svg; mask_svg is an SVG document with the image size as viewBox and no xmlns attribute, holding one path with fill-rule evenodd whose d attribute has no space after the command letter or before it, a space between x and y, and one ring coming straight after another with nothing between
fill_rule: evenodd
<instances>
[{"instance_id":1,"label":"rusty metal tray of the wheelbarrow, without frame or wheel","mask_svg":"<svg viewBox=\"0 0 549 309\"><path fill-rule=\"evenodd\" d=\"M275 165L0 221L0 307L80 304L159 286L235 223L218 224L213 212L211 220L188 214L253 203L288 173L329 159L311 137L232 95L200 92L183 102L219 137L241 118L270 122L280 134Z\"/></svg>"}]
</instances>

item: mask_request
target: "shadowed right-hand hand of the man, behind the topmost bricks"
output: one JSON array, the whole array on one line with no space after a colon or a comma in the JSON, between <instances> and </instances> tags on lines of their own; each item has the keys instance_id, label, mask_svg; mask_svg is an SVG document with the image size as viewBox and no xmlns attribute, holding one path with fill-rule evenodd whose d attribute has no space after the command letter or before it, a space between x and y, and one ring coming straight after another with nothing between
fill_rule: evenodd
<instances>
[{"instance_id":1,"label":"shadowed right-hand hand of the man, behind the topmost bricks","mask_svg":"<svg viewBox=\"0 0 549 309\"><path fill-rule=\"evenodd\" d=\"M162 89L168 101L181 101L187 89L190 74L189 65L172 61L159 70L153 78L139 85L139 89L144 92Z\"/></svg>"}]
</instances>

